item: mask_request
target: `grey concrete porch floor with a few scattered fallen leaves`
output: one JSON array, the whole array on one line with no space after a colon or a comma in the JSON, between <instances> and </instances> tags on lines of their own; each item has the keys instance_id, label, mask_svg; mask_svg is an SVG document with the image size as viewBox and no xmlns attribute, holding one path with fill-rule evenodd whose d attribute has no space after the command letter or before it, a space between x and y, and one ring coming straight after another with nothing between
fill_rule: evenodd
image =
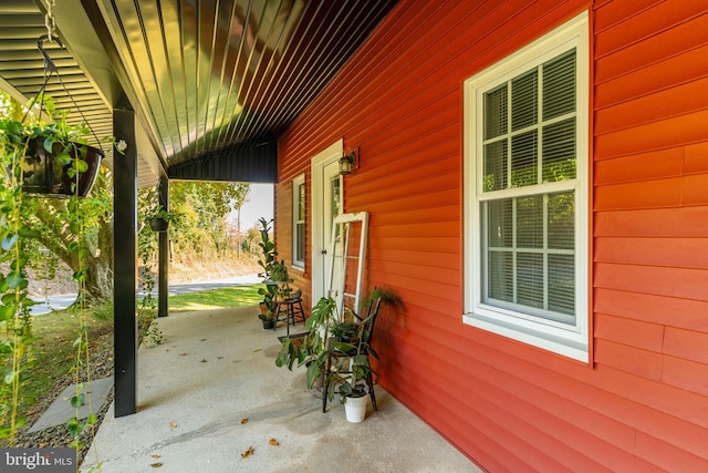
<instances>
[{"instance_id":1,"label":"grey concrete porch floor with a few scattered fallen leaves","mask_svg":"<svg viewBox=\"0 0 708 473\"><path fill-rule=\"evenodd\" d=\"M81 471L480 471L379 387L362 423L336 400L322 413L304 369L273 362L284 327L263 330L257 312L159 319L163 345L138 352L138 412L115 419L111 408Z\"/></svg>"}]
</instances>

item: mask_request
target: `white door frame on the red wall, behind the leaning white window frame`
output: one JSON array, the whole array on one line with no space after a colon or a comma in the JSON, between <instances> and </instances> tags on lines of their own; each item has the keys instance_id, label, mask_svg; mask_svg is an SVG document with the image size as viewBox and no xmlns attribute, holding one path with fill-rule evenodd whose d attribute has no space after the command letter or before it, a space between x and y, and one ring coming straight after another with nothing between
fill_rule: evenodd
<instances>
[{"instance_id":1,"label":"white door frame on the red wall, behind the leaning white window frame","mask_svg":"<svg viewBox=\"0 0 708 473\"><path fill-rule=\"evenodd\" d=\"M324 235L324 192L325 192L325 166L339 161L344 152L344 140L340 138L325 150L315 154L311 160L312 172L312 220L310 223L310 232L312 235L311 240L311 257L312 261L312 301L313 304L320 300L321 297L326 296L325 281L327 280L327 268L324 265L324 258L322 258L322 250L329 249L330 241L325 241ZM342 206L344 206L344 183L342 176L340 176L340 193L342 198ZM340 208L340 213L344 209ZM330 223L332 225L332 223Z\"/></svg>"}]
</instances>

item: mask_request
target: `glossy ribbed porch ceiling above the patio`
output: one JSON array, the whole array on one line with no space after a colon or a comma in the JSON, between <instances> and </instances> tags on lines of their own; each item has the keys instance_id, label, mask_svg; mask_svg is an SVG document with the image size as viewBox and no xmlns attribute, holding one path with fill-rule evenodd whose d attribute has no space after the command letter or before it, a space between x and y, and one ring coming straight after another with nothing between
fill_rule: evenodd
<instances>
[{"instance_id":1,"label":"glossy ribbed porch ceiling above the patio","mask_svg":"<svg viewBox=\"0 0 708 473\"><path fill-rule=\"evenodd\" d=\"M69 94L55 79L48 91L98 136L127 100L140 124L138 185L155 185L170 168L272 148L395 2L55 0L65 49L46 49ZM46 10L0 2L0 88L23 102L42 84Z\"/></svg>"}]
</instances>

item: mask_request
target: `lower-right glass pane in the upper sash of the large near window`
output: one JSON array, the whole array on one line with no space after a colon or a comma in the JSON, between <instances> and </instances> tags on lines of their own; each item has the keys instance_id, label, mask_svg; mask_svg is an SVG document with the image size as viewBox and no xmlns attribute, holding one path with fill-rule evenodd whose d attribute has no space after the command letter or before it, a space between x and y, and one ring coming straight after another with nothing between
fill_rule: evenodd
<instances>
[{"instance_id":1,"label":"lower-right glass pane in the upper sash of the large near window","mask_svg":"<svg viewBox=\"0 0 708 473\"><path fill-rule=\"evenodd\" d=\"M543 127L543 182L575 178L575 119Z\"/></svg>"}]
</instances>

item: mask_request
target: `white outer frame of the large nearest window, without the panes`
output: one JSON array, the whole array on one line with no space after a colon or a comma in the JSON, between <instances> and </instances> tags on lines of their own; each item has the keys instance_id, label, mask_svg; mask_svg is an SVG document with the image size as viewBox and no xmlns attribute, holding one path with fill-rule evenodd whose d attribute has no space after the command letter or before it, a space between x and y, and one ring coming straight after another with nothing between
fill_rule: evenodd
<instances>
[{"instance_id":1,"label":"white outer frame of the large nearest window, without the panes","mask_svg":"<svg viewBox=\"0 0 708 473\"><path fill-rule=\"evenodd\" d=\"M492 307L482 302L482 113L483 93L532 68L576 49L576 178L539 184L534 194L575 193L575 325ZM575 360L589 360L589 94L587 12L465 81L465 313L462 321ZM527 189L528 191L528 189ZM520 195L525 192L520 191Z\"/></svg>"}]
</instances>

